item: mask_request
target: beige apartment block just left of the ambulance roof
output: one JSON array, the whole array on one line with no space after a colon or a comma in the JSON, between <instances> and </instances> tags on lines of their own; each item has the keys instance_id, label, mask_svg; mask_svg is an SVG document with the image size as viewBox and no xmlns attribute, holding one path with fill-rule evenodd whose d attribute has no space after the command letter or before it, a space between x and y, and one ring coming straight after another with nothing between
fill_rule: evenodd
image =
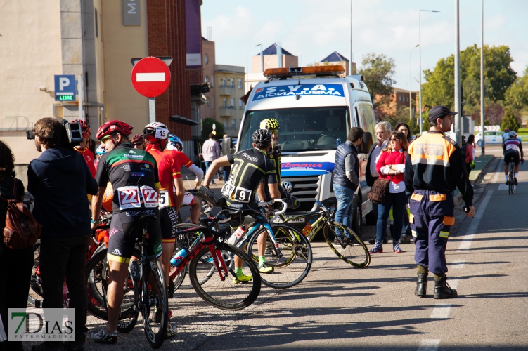
<instances>
[{"instance_id":1,"label":"beige apartment block just left of the ambulance roof","mask_svg":"<svg viewBox=\"0 0 528 351\"><path fill-rule=\"evenodd\" d=\"M214 86L217 121L224 124L224 131L229 136L237 136L238 128L244 114L244 67L214 65Z\"/></svg>"}]
</instances>

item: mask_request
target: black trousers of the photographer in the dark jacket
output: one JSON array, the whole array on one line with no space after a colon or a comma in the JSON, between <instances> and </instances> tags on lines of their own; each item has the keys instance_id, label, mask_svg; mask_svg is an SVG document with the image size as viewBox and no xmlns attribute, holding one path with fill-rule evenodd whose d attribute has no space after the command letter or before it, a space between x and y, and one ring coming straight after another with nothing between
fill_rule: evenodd
<instances>
[{"instance_id":1,"label":"black trousers of the photographer in the dark jacket","mask_svg":"<svg viewBox=\"0 0 528 351\"><path fill-rule=\"evenodd\" d=\"M66 277L70 308L75 309L75 345L86 340L86 253L91 234L73 237L41 238L40 274L44 308L63 308L63 283ZM60 347L61 341L46 341Z\"/></svg>"}]
</instances>

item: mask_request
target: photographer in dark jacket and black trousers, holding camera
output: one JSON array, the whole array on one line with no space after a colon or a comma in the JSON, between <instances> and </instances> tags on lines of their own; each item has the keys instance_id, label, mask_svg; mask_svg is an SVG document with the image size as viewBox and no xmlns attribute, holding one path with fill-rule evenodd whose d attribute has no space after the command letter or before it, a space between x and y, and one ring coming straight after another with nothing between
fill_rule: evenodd
<instances>
[{"instance_id":1,"label":"photographer in dark jacket and black trousers, holding camera","mask_svg":"<svg viewBox=\"0 0 528 351\"><path fill-rule=\"evenodd\" d=\"M44 308L63 308L63 282L75 309L75 342L65 350L83 350L86 336L84 270L91 236L86 194L97 194L96 180L84 158L68 145L65 126L53 118L39 119L34 128L38 159L27 168L27 190L34 197L33 215L43 226L40 272ZM61 341L45 341L32 350L62 350Z\"/></svg>"}]
</instances>

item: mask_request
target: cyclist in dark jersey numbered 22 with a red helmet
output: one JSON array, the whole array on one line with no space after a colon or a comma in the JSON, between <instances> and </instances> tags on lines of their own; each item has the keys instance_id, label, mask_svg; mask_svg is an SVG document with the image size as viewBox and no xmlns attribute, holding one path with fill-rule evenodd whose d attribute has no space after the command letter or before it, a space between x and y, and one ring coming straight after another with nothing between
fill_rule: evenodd
<instances>
[{"instance_id":1,"label":"cyclist in dark jersey numbered 22 with a red helmet","mask_svg":"<svg viewBox=\"0 0 528 351\"><path fill-rule=\"evenodd\" d=\"M113 216L108 242L108 267L110 269L107 299L108 322L100 331L91 333L96 343L117 342L117 317L123 300L123 284L127 277L132 251L141 227L136 226L141 216L159 218L158 191L160 181L155 158L146 151L134 150L129 142L132 126L124 121L108 121L97 131L106 153L101 156L96 173L99 186L91 209L91 228L98 225L101 202L108 181L114 189ZM141 194L141 195L140 195ZM96 220L94 220L96 218ZM159 220L148 226L148 255L161 256Z\"/></svg>"}]
</instances>

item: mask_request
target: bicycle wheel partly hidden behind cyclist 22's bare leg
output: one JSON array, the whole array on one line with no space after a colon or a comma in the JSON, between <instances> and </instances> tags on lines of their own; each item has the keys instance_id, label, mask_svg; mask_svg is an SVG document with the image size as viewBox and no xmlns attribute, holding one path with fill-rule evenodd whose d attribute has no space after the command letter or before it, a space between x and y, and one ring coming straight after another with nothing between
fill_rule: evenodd
<instances>
[{"instance_id":1,"label":"bicycle wheel partly hidden behind cyclist 22's bare leg","mask_svg":"<svg viewBox=\"0 0 528 351\"><path fill-rule=\"evenodd\" d=\"M88 295L88 310L95 317L108 320L108 305L106 291L108 289L108 261L106 260L107 249L96 251L94 256L86 264L86 293ZM140 255L139 252L134 251ZM135 256L135 255L134 255ZM134 284L130 273L124 283L123 302L117 322L117 330L128 333L136 325L139 311L134 308Z\"/></svg>"}]
</instances>

